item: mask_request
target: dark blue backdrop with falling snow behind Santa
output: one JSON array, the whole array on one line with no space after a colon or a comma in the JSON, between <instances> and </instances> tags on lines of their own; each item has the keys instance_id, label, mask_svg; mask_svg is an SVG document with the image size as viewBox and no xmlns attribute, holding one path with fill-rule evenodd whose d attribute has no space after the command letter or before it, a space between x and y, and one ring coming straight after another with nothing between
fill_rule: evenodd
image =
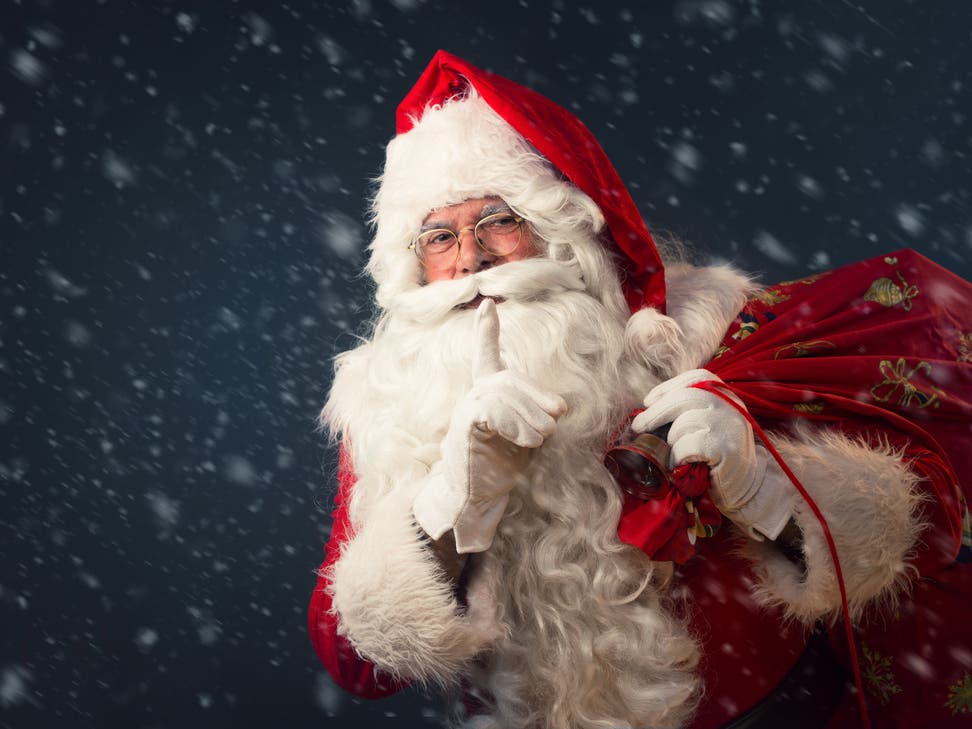
<instances>
[{"instance_id":1,"label":"dark blue backdrop with falling snow behind Santa","mask_svg":"<svg viewBox=\"0 0 972 729\"><path fill-rule=\"evenodd\" d=\"M440 724L305 629L368 179L439 47L573 109L705 257L972 274L964 0L476 7L0 5L0 726Z\"/></svg>"}]
</instances>

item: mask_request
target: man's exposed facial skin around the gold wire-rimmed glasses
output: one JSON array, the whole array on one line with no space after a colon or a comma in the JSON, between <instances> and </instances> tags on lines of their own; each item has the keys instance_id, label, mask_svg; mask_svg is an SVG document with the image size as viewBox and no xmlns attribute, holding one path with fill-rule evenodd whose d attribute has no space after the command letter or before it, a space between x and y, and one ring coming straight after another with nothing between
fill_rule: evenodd
<instances>
[{"instance_id":1,"label":"man's exposed facial skin around the gold wire-rimmed glasses","mask_svg":"<svg viewBox=\"0 0 972 729\"><path fill-rule=\"evenodd\" d=\"M499 266L510 261L521 261L540 253L530 226L525 222L520 225L520 243L516 249L505 256L495 256L476 243L473 228L476 223L487 215L509 210L509 207L498 197L483 197L466 200L458 205L439 208L429 213L422 222L422 229L445 228L460 233L459 255L455 263L448 268L426 269L425 280L444 281L446 279L465 278L486 268Z\"/></svg>"}]
</instances>

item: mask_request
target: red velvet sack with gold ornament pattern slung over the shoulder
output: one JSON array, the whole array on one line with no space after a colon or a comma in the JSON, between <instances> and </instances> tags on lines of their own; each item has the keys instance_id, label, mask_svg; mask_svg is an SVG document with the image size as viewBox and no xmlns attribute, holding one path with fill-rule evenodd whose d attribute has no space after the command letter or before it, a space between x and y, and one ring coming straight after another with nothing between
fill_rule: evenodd
<instances>
[{"instance_id":1,"label":"red velvet sack with gold ornament pattern slung over the shoulder","mask_svg":"<svg viewBox=\"0 0 972 729\"><path fill-rule=\"evenodd\" d=\"M827 422L935 456L921 462L934 471L924 474L935 497L929 508L941 512L934 521L947 527L919 566L954 560L967 497L956 474L966 482L972 474L972 284L902 250L770 286L746 304L705 367L764 428ZM649 556L684 561L684 545L659 545L658 530L682 539L671 511L685 499L667 498L667 511L629 501L619 536Z\"/></svg>"}]
</instances>

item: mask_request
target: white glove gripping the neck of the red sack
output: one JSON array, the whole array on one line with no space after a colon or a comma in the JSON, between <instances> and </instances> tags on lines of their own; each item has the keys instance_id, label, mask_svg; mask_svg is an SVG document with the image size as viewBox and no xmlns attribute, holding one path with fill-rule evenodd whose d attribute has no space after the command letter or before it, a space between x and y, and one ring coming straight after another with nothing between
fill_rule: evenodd
<instances>
[{"instance_id":1,"label":"white glove gripping the neck of the red sack","mask_svg":"<svg viewBox=\"0 0 972 729\"><path fill-rule=\"evenodd\" d=\"M692 387L705 380L722 382L698 369L652 388L645 411L631 427L643 433L671 423L669 466L707 463L712 501L719 511L754 539L776 539L793 514L797 491L767 450L755 444L752 427L735 408Z\"/></svg>"}]
</instances>

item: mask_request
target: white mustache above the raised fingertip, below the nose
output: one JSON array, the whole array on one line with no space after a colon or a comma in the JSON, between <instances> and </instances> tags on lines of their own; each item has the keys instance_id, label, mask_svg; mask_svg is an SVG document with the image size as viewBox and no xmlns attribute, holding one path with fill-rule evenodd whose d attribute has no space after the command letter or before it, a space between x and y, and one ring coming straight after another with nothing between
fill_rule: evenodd
<instances>
[{"instance_id":1,"label":"white mustache above the raised fingertip, below the nose","mask_svg":"<svg viewBox=\"0 0 972 729\"><path fill-rule=\"evenodd\" d=\"M580 267L549 258L527 258L487 268L471 276L435 281L396 296L394 316L431 324L473 301L477 296L536 301L564 291L583 291Z\"/></svg>"}]
</instances>

